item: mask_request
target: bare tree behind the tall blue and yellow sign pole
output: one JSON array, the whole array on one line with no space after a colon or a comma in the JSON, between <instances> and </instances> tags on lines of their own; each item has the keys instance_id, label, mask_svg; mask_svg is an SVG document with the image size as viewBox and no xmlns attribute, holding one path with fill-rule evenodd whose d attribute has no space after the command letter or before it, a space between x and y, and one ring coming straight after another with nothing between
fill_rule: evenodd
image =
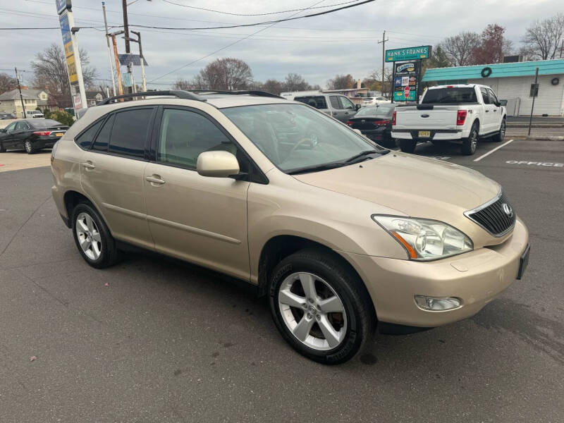
<instances>
[{"instance_id":1,"label":"bare tree behind the tall blue and yellow sign pole","mask_svg":"<svg viewBox=\"0 0 564 423\"><path fill-rule=\"evenodd\" d=\"M87 87L94 86L96 68L88 66L90 60L85 50L80 50L80 62L82 64L82 78ZM66 57L63 48L56 43L51 44L44 51L35 54L35 61L31 62L33 69L32 85L51 94L71 94L68 84L68 73L66 70Z\"/></svg>"}]
</instances>

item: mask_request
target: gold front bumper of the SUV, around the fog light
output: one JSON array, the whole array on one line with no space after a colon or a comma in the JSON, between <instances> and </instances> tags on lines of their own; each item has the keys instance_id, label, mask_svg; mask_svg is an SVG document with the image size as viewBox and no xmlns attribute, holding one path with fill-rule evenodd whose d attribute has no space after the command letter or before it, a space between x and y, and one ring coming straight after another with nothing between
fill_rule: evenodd
<instances>
[{"instance_id":1,"label":"gold front bumper of the SUV, around the fog light","mask_svg":"<svg viewBox=\"0 0 564 423\"><path fill-rule=\"evenodd\" d=\"M473 316L508 288L517 278L528 240L525 224L517 219L503 244L434 262L340 254L367 286L379 321L434 327ZM424 310L417 307L415 295L458 298L461 305L446 311Z\"/></svg>"}]
</instances>

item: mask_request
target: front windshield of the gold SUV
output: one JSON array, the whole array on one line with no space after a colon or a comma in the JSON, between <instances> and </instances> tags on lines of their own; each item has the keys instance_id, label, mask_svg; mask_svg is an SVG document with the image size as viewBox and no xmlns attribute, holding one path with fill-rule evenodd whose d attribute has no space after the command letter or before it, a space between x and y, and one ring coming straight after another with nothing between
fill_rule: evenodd
<instances>
[{"instance_id":1,"label":"front windshield of the gold SUV","mask_svg":"<svg viewBox=\"0 0 564 423\"><path fill-rule=\"evenodd\" d=\"M299 104L260 104L221 110L286 173L346 166L388 150L325 114ZM362 154L362 155L361 155Z\"/></svg>"}]
</instances>

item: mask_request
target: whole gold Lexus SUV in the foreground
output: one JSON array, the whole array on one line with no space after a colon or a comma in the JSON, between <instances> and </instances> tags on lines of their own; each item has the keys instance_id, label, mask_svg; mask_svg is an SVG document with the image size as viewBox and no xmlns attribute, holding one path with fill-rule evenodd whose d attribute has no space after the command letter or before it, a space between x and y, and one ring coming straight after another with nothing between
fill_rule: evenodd
<instances>
[{"instance_id":1,"label":"whole gold Lexus SUV in the foreground","mask_svg":"<svg viewBox=\"0 0 564 423\"><path fill-rule=\"evenodd\" d=\"M135 245L246 281L328 364L376 324L470 317L525 269L527 228L481 173L274 94L142 95L88 109L53 150L53 197L91 266Z\"/></svg>"}]
</instances>

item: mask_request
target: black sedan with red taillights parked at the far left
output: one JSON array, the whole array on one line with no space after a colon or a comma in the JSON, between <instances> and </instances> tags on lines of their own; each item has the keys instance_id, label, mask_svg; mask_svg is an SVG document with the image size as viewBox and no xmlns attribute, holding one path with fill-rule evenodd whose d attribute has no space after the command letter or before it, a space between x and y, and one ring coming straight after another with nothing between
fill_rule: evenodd
<instances>
[{"instance_id":1,"label":"black sedan with red taillights parked at the far left","mask_svg":"<svg viewBox=\"0 0 564 423\"><path fill-rule=\"evenodd\" d=\"M51 119L21 119L0 129L0 153L7 149L24 149L27 154L53 147L68 126Z\"/></svg>"}]
</instances>

